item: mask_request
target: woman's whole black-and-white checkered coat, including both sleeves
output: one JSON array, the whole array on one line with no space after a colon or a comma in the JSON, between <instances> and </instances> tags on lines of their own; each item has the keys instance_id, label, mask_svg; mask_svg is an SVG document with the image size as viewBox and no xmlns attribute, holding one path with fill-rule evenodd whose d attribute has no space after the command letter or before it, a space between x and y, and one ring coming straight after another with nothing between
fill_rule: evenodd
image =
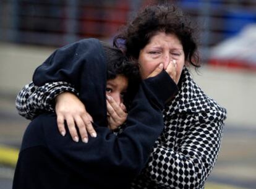
<instances>
[{"instance_id":1,"label":"woman's whole black-and-white checkered coat, including both sleeves","mask_svg":"<svg viewBox=\"0 0 256 189\"><path fill-rule=\"evenodd\" d=\"M54 111L54 98L63 91L77 93L66 82L26 85L17 96L19 114L33 119ZM204 188L220 151L226 109L209 98L185 68L181 87L163 111L164 130L150 159L130 188Z\"/></svg>"}]
</instances>

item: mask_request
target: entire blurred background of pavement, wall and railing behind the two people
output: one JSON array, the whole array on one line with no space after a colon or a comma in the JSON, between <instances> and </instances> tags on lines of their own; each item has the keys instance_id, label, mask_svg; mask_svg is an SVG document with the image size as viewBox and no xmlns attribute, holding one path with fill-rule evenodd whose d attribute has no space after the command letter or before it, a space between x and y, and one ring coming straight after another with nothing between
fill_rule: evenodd
<instances>
[{"instance_id":1,"label":"entire blurred background of pavement, wall and railing behind the two people","mask_svg":"<svg viewBox=\"0 0 256 189\"><path fill-rule=\"evenodd\" d=\"M12 187L28 120L15 97L54 49L82 38L111 43L135 12L173 2L200 26L203 66L194 80L228 109L223 143L206 188L256 188L255 0L0 0L0 189Z\"/></svg>"}]
</instances>

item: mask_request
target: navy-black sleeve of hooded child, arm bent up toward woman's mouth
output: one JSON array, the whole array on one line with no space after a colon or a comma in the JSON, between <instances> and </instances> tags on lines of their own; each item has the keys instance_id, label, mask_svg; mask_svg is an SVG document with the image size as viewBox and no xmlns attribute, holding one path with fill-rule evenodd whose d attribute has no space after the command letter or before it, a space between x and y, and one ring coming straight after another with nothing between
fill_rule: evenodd
<instances>
[{"instance_id":1,"label":"navy-black sleeve of hooded child, arm bent up toward woman's mouth","mask_svg":"<svg viewBox=\"0 0 256 189\"><path fill-rule=\"evenodd\" d=\"M106 188L128 185L145 166L153 145L163 130L164 102L177 91L168 73L142 82L127 116L127 127L114 135L95 125L98 136L89 143L74 143L69 134L58 133L56 117L43 117L42 128L51 153L70 169ZM30 127L33 128L34 126Z\"/></svg>"}]
</instances>

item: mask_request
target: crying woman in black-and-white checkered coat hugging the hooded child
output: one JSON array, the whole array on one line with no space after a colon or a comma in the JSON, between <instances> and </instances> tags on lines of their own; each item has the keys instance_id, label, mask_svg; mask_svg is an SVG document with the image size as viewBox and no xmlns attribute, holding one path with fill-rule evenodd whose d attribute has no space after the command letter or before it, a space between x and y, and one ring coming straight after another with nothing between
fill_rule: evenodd
<instances>
[{"instance_id":1,"label":"crying woman in black-and-white checkered coat hugging the hooded child","mask_svg":"<svg viewBox=\"0 0 256 189\"><path fill-rule=\"evenodd\" d=\"M114 46L137 61L142 79L156 67L163 66L164 70L171 68L168 73L179 88L164 106L163 132L156 140L145 168L130 188L204 188L205 180L215 165L226 109L208 97L189 73L189 67L200 67L195 31L182 11L166 4L143 9L114 39ZM67 88L70 86L66 86L64 91L72 90ZM45 90L54 91L53 88ZM59 131L66 132L64 120L69 122L71 117L69 130L75 138L78 134L74 122L79 125L76 117L89 117L85 110L87 105L84 106L77 96L68 92L59 94L56 102ZM43 104L45 106L41 109L49 106L54 109L53 104ZM34 109L19 111L21 114L35 112ZM115 114L111 112L110 116ZM88 120L81 127L87 128L90 135L96 135L87 124ZM80 135L87 136L87 132L83 130Z\"/></svg>"}]
</instances>

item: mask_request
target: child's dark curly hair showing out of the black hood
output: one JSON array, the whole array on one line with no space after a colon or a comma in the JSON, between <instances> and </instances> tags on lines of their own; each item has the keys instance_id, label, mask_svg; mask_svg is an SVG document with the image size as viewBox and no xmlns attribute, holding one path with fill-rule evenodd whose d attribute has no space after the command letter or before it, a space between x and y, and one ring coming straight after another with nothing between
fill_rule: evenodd
<instances>
[{"instance_id":1,"label":"child's dark curly hair showing out of the black hood","mask_svg":"<svg viewBox=\"0 0 256 189\"><path fill-rule=\"evenodd\" d=\"M117 75L123 75L128 79L127 95L124 96L124 103L128 106L134 98L141 81L139 66L130 61L120 49L113 48L103 41L101 41L101 45L106 55L107 80L112 80Z\"/></svg>"}]
</instances>

